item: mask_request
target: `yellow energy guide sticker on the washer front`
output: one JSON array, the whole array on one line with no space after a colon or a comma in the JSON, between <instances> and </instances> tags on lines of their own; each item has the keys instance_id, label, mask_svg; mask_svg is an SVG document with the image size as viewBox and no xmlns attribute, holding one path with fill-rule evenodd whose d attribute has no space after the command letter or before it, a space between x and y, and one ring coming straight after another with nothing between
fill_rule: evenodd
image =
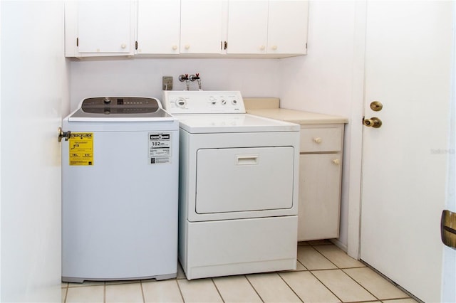
<instances>
[{"instance_id":1,"label":"yellow energy guide sticker on the washer front","mask_svg":"<svg viewBox=\"0 0 456 303\"><path fill-rule=\"evenodd\" d=\"M70 165L93 165L93 132L72 132Z\"/></svg>"}]
</instances>

